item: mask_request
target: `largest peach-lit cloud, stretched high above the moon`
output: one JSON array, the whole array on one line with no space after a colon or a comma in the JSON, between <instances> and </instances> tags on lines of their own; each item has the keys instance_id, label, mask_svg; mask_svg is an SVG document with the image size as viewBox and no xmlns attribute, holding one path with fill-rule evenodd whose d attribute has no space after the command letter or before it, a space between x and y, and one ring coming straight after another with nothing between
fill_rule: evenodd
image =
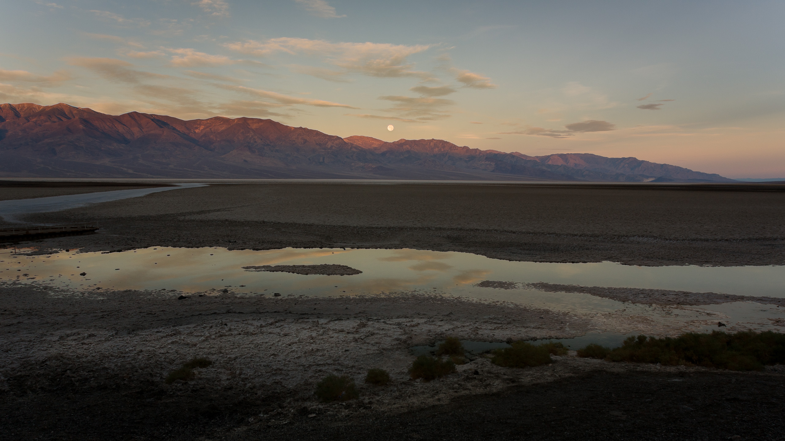
<instances>
[{"instance_id":1,"label":"largest peach-lit cloud, stretched high above the moon","mask_svg":"<svg viewBox=\"0 0 785 441\"><path fill-rule=\"evenodd\" d=\"M272 56L276 53L291 55L317 56L327 64L338 67L338 71L327 71L314 68L305 70L296 67L303 73L309 73L319 78L330 78L335 81L342 75L359 73L379 78L417 77L425 80L433 79L429 72L414 71L413 63L407 60L408 56L421 53L429 45L393 45L389 43L353 43L353 42L326 42L324 40L309 40L308 38L271 38L265 42L246 40L245 42L232 42L224 45L235 52L253 56Z\"/></svg>"}]
</instances>

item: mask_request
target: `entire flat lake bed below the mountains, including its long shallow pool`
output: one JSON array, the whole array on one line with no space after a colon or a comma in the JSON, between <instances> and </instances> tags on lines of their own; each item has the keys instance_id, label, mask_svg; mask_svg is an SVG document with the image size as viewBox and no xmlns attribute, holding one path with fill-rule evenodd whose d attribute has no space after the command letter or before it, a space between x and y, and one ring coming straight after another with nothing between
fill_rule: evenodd
<instances>
[{"instance_id":1,"label":"entire flat lake bed below the mountains, including its long shallow pool","mask_svg":"<svg viewBox=\"0 0 785 441\"><path fill-rule=\"evenodd\" d=\"M100 225L0 250L4 438L776 439L783 428L777 366L570 352L520 370L480 353L515 339L780 332L781 186L207 184L58 211L29 208L35 191L101 196L85 184L0 198L17 207L6 215L0 201L6 222ZM411 381L418 350L447 336L476 356ZM214 364L163 382L194 356ZM372 367L392 385L363 385ZM360 399L318 403L327 374L354 377Z\"/></svg>"}]
</instances>

